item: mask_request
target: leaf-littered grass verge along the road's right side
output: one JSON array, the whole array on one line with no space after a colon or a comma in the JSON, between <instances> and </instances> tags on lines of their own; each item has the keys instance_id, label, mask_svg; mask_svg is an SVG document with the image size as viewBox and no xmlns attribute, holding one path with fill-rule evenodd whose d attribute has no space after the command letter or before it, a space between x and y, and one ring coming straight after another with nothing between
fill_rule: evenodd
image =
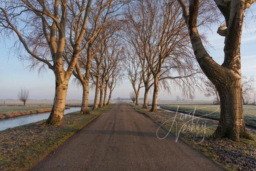
<instances>
[{"instance_id":1,"label":"leaf-littered grass verge along the road's right side","mask_svg":"<svg viewBox=\"0 0 256 171\"><path fill-rule=\"evenodd\" d=\"M179 141L183 140L202 154L212 159L215 163L230 171L256 170L256 131L250 130L254 141L242 139L234 142L226 138L213 138L218 121L186 115L176 115L175 112L149 112L140 106L132 105L135 110L146 115L162 128L176 135ZM172 126L173 124L173 126ZM156 130L157 131L157 130ZM164 137L159 137L164 138Z\"/></svg>"}]
</instances>

